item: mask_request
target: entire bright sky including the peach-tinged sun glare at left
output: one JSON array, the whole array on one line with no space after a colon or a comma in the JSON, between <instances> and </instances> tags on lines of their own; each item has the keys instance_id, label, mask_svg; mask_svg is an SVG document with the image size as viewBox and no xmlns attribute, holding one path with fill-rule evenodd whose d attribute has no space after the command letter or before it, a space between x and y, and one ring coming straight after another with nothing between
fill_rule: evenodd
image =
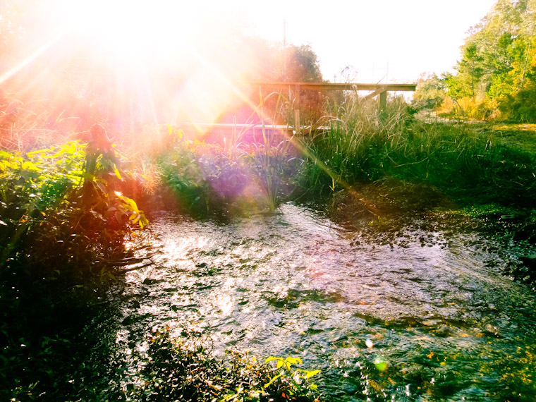
<instances>
[{"instance_id":1,"label":"entire bright sky including the peach-tinged sun glare at left","mask_svg":"<svg viewBox=\"0 0 536 402\"><path fill-rule=\"evenodd\" d=\"M63 71L66 54L87 52L93 54L82 66L88 74L99 62L109 63L118 85L128 81L140 94L151 87L152 102L167 99L162 104L188 109L193 121L212 121L231 97L245 97L235 86L240 77L263 68L258 55L239 58L247 49L233 42L236 32L281 44L285 18L287 44L310 44L324 79L410 83L422 73L451 70L468 30L496 1L330 0L318 6L298 0L20 0L33 31L28 43L35 46L20 49L20 62L0 71L0 83L39 58L53 63L58 56ZM145 69L149 65L152 70ZM160 87L149 82L147 71L162 73ZM169 82L177 76L180 85ZM190 110L193 105L200 110Z\"/></svg>"}]
</instances>

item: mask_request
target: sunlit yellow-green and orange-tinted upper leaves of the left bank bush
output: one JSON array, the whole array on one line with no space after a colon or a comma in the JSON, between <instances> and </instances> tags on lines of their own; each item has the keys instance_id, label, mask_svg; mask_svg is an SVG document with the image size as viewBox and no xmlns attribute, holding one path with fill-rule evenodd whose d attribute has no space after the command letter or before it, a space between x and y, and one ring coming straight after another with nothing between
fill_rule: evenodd
<instances>
[{"instance_id":1,"label":"sunlit yellow-green and orange-tinted upper leaves of the left bank bush","mask_svg":"<svg viewBox=\"0 0 536 402\"><path fill-rule=\"evenodd\" d=\"M51 247L79 238L116 243L115 232L126 229L123 218L147 224L133 200L114 193L110 177L89 175L85 163L85 146L78 142L24 156L0 151L0 240L6 245L0 270L13 260L27 267L41 264ZM98 165L106 164L100 158ZM121 176L116 168L114 175ZM81 190L89 185L94 197L87 201ZM30 257L17 253L25 247L34 249Z\"/></svg>"}]
</instances>

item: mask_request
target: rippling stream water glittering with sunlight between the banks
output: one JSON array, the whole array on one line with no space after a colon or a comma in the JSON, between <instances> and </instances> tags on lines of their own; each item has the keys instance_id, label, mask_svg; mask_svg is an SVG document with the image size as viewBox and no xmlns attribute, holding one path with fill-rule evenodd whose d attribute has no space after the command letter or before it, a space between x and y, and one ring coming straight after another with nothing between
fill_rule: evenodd
<instances>
[{"instance_id":1,"label":"rippling stream water glittering with sunlight between the banks","mask_svg":"<svg viewBox=\"0 0 536 402\"><path fill-rule=\"evenodd\" d=\"M332 401L536 400L534 293L503 274L521 250L493 236L408 226L380 242L292 204L152 228L156 264L116 300L123 354L189 325L217 351L300 357Z\"/></svg>"}]
</instances>

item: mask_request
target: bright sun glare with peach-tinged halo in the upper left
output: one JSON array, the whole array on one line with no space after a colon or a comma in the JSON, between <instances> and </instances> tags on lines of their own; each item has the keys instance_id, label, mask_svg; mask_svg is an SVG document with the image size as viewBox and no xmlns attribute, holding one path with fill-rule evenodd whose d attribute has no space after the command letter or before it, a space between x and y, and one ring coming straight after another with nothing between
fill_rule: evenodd
<instances>
[{"instance_id":1,"label":"bright sun glare with peach-tinged halo in the upper left","mask_svg":"<svg viewBox=\"0 0 536 402\"><path fill-rule=\"evenodd\" d=\"M59 94L51 97L63 97L68 90L62 88L71 85L68 78L78 85L76 96L107 99L100 107L106 116L130 107L121 109L121 104L136 104L165 123L217 121L233 102L247 101L240 85L255 70L255 57L236 39L236 20L214 6L171 0L28 0L24 14L32 21L31 46L1 72L0 83L34 66L32 82L49 85L42 91L47 97L51 92Z\"/></svg>"}]
</instances>

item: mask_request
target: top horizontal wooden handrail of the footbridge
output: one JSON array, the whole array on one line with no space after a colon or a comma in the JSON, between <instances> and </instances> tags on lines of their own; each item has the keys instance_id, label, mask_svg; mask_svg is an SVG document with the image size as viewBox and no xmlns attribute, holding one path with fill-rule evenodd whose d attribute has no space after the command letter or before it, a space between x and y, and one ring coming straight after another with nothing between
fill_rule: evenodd
<instances>
[{"instance_id":1,"label":"top horizontal wooden handrail of the footbridge","mask_svg":"<svg viewBox=\"0 0 536 402\"><path fill-rule=\"evenodd\" d=\"M260 87L274 90L287 90L289 87L300 85L302 90L317 91L410 91L417 88L417 84L360 84L360 83L279 83L251 81L251 85L260 85Z\"/></svg>"}]
</instances>

